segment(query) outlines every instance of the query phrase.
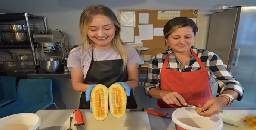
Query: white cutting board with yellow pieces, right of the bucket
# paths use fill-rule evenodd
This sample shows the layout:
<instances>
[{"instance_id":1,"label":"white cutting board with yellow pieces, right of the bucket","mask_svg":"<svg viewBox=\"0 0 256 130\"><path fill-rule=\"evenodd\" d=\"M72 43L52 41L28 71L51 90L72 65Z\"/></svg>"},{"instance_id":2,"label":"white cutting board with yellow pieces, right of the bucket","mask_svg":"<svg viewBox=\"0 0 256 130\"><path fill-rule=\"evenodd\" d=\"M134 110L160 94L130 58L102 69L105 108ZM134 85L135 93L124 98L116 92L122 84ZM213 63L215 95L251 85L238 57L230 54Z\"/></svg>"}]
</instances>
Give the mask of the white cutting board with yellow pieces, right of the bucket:
<instances>
[{"instance_id":1,"label":"white cutting board with yellow pieces, right of the bucket","mask_svg":"<svg viewBox=\"0 0 256 130\"><path fill-rule=\"evenodd\" d=\"M239 126L234 127L224 124L222 130L255 130L252 128L255 123L246 124L243 120L246 120L246 116L256 116L256 110L223 110L223 113L218 115L223 121Z\"/></svg>"}]
</instances>

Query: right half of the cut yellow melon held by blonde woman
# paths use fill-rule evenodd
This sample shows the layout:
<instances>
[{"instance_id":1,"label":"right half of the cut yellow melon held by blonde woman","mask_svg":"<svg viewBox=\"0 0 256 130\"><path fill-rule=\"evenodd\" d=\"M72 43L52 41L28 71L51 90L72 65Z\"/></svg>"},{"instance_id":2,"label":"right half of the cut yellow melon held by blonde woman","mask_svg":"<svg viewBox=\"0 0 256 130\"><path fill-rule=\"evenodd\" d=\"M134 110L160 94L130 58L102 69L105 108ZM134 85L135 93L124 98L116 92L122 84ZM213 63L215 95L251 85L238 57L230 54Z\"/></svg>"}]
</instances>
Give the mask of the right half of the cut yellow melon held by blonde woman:
<instances>
[{"instance_id":1,"label":"right half of the cut yellow melon held by blonde woman","mask_svg":"<svg viewBox=\"0 0 256 130\"><path fill-rule=\"evenodd\" d=\"M126 93L123 86L112 84L108 88L108 101L112 116L115 118L123 117L126 109Z\"/></svg>"}]
</instances>

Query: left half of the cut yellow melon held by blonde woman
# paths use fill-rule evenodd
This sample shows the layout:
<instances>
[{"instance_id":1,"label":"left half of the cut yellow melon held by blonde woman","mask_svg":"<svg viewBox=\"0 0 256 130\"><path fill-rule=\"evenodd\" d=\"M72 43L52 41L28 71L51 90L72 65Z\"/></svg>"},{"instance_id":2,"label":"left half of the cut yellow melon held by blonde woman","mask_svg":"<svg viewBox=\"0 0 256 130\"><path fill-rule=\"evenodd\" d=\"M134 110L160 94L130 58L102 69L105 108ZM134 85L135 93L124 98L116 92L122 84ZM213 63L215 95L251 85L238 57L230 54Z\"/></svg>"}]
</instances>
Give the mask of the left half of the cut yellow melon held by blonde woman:
<instances>
[{"instance_id":1,"label":"left half of the cut yellow melon held by blonde woman","mask_svg":"<svg viewBox=\"0 0 256 130\"><path fill-rule=\"evenodd\" d=\"M90 99L93 118L103 121L108 116L108 88L105 85L97 84L91 93Z\"/></svg>"}]
</instances>

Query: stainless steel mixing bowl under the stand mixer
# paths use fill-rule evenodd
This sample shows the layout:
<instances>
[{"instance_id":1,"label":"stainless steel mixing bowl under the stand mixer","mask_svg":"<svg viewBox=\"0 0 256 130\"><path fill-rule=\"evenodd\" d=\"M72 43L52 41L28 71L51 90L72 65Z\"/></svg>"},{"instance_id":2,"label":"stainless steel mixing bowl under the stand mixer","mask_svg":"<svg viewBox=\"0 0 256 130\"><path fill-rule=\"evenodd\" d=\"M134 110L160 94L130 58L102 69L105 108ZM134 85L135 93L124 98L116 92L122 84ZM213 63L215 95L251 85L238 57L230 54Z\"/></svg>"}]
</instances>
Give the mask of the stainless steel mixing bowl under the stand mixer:
<instances>
[{"instance_id":1,"label":"stainless steel mixing bowl under the stand mixer","mask_svg":"<svg viewBox=\"0 0 256 130\"><path fill-rule=\"evenodd\" d=\"M62 66L62 57L50 56L38 58L39 66L43 71L56 72Z\"/></svg>"}]
</instances>

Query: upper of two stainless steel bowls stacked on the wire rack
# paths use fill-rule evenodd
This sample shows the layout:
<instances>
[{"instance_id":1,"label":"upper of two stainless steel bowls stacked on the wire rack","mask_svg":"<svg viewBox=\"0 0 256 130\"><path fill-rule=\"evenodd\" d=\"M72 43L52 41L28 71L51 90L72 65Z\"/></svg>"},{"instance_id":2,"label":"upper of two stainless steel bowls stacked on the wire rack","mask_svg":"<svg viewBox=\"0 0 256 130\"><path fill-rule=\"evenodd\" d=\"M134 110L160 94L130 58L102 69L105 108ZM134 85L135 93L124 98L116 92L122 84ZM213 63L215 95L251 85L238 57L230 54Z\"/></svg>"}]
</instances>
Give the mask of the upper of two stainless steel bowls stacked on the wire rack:
<instances>
[{"instance_id":1,"label":"upper of two stainless steel bowls stacked on the wire rack","mask_svg":"<svg viewBox=\"0 0 256 130\"><path fill-rule=\"evenodd\" d=\"M1 24L1 32L28 32L27 25L18 25L18 24ZM34 32L34 25L30 25L30 31Z\"/></svg>"}]
</instances>

